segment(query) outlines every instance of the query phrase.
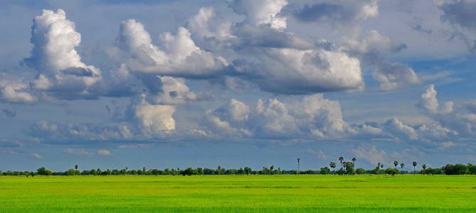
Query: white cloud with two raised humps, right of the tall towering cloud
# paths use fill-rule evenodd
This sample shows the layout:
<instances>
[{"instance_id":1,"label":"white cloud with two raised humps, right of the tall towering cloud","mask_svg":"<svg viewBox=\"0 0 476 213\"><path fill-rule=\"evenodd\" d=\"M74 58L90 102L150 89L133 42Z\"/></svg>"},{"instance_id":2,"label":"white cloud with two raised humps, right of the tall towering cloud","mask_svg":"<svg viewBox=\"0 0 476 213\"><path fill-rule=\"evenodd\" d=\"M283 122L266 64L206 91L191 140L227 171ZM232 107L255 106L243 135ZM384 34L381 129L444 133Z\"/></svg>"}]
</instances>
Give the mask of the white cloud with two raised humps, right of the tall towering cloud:
<instances>
[{"instance_id":1,"label":"white cloud with two raised humps, right of the tall towering cloud","mask_svg":"<svg viewBox=\"0 0 476 213\"><path fill-rule=\"evenodd\" d=\"M162 33L156 46L142 23L129 19L122 21L118 40L128 55L127 67L135 72L192 78L222 72L226 60L197 47L190 35L188 29L179 27L176 35Z\"/></svg>"}]
</instances>

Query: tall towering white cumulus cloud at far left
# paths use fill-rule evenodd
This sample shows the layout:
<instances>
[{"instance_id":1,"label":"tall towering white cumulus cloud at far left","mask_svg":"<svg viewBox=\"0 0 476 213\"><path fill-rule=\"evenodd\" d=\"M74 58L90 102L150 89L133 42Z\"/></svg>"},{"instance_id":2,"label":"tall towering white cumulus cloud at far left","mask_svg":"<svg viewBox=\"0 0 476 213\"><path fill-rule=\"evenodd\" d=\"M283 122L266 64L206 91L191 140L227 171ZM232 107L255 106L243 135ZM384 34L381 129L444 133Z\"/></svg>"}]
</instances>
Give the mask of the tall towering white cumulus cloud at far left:
<instances>
[{"instance_id":1,"label":"tall towering white cumulus cloud at far left","mask_svg":"<svg viewBox=\"0 0 476 213\"><path fill-rule=\"evenodd\" d=\"M66 18L62 9L43 10L33 19L31 27L31 57L26 65L38 70L33 89L55 92L58 97L95 96L95 84L101 80L101 72L92 65L81 62L75 48L81 35L75 31L75 23Z\"/></svg>"}]
</instances>

